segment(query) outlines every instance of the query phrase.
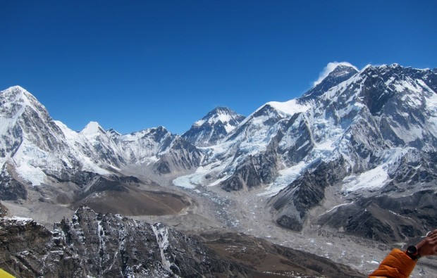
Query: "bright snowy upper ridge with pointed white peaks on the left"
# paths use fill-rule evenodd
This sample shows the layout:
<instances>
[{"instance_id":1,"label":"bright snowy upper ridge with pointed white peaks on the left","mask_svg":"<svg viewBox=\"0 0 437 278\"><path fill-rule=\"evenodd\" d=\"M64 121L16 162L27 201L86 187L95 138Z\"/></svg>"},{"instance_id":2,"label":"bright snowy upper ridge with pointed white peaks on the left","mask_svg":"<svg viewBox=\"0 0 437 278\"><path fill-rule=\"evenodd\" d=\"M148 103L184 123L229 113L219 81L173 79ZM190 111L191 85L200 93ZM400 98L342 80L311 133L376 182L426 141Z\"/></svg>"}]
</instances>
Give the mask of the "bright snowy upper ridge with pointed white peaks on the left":
<instances>
[{"instance_id":1,"label":"bright snowy upper ridge with pointed white peaks on the left","mask_svg":"<svg viewBox=\"0 0 437 278\"><path fill-rule=\"evenodd\" d=\"M52 120L44 106L21 87L1 91L1 101L4 151L0 169L5 163L13 165L18 177L34 186L53 178L76 179L80 171L112 175L128 163L154 163L176 139L164 127L122 136L105 132L97 122L74 132Z\"/></svg>"}]
</instances>

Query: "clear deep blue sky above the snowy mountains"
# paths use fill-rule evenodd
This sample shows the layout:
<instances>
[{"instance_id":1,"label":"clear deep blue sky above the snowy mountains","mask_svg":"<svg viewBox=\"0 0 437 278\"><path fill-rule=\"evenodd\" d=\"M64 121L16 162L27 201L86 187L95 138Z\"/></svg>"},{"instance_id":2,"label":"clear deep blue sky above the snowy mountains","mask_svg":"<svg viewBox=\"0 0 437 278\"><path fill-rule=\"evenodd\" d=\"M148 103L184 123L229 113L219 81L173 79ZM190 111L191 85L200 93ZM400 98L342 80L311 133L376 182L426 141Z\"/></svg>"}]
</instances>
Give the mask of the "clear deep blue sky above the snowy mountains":
<instances>
[{"instance_id":1,"label":"clear deep blue sky above the snowy mountains","mask_svg":"<svg viewBox=\"0 0 437 278\"><path fill-rule=\"evenodd\" d=\"M327 63L437 67L437 1L0 0L0 90L74 130L182 134L300 96Z\"/></svg>"}]
</instances>

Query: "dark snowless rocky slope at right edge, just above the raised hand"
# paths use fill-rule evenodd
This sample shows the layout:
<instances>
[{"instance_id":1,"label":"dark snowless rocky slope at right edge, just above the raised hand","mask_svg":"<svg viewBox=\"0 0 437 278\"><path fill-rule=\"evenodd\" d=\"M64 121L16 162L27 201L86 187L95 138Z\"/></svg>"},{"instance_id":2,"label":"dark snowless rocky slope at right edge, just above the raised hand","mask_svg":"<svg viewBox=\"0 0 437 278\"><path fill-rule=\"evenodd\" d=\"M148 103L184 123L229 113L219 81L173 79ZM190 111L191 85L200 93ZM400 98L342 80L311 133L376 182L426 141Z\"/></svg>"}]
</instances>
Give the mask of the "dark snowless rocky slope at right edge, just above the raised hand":
<instances>
[{"instance_id":1,"label":"dark snowless rocky slope at right edge, just above the raised hand","mask_svg":"<svg viewBox=\"0 0 437 278\"><path fill-rule=\"evenodd\" d=\"M423 236L437 225L437 193L363 198L321 217L319 224L343 227L345 232L384 243Z\"/></svg>"}]
</instances>

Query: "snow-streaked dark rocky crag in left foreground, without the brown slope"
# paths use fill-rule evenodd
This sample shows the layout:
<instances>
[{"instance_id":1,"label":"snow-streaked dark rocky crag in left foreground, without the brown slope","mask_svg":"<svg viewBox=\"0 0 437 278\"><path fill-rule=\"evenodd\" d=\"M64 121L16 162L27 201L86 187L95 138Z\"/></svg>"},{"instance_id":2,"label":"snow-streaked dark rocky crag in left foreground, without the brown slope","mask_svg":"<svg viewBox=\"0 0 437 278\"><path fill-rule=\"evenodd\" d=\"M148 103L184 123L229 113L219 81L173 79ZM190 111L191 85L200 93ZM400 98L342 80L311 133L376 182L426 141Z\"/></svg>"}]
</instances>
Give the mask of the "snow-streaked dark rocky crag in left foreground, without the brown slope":
<instances>
[{"instance_id":1,"label":"snow-streaked dark rocky crag in left foreground, without the brown slope","mask_svg":"<svg viewBox=\"0 0 437 278\"><path fill-rule=\"evenodd\" d=\"M32 220L0 220L0 267L17 277L247 277L164 225L79 208L54 231Z\"/></svg>"}]
</instances>

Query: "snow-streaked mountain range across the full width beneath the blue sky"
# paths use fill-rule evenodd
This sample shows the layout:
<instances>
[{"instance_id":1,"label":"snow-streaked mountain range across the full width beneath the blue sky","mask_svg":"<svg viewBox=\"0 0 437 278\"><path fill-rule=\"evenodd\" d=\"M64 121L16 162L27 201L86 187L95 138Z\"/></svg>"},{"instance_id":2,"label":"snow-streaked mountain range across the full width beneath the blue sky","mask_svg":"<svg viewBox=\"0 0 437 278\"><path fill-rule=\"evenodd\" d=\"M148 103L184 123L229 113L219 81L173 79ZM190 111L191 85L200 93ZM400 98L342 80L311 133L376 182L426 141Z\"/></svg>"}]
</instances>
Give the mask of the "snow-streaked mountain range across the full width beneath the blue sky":
<instances>
[{"instance_id":1,"label":"snow-streaked mountain range across the full width beneath the blue sky","mask_svg":"<svg viewBox=\"0 0 437 278\"><path fill-rule=\"evenodd\" d=\"M119 134L97 122L74 132L21 87L0 101L6 206L32 210L37 196L72 210L99 199L101 208L113 192L137 198L147 184L237 208L244 196L275 229L295 232L393 244L437 227L437 69L340 64L300 98L247 117L215 108L182 135ZM225 226L235 221L244 220Z\"/></svg>"}]
</instances>

